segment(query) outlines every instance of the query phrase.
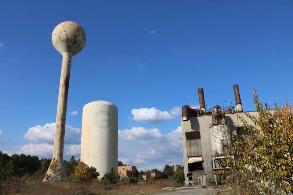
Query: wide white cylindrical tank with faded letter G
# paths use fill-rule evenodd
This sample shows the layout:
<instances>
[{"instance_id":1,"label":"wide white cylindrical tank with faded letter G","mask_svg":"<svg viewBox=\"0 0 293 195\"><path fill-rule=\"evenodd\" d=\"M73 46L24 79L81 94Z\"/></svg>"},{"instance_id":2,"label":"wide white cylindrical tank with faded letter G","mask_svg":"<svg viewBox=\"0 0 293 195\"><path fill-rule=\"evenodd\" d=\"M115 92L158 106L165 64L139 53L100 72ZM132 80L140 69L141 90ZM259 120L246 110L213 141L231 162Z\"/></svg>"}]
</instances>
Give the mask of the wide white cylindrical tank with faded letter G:
<instances>
[{"instance_id":1,"label":"wide white cylindrical tank with faded letter G","mask_svg":"<svg viewBox=\"0 0 293 195\"><path fill-rule=\"evenodd\" d=\"M118 166L118 108L107 101L93 101L82 110L81 161L93 166L99 178Z\"/></svg>"}]
</instances>

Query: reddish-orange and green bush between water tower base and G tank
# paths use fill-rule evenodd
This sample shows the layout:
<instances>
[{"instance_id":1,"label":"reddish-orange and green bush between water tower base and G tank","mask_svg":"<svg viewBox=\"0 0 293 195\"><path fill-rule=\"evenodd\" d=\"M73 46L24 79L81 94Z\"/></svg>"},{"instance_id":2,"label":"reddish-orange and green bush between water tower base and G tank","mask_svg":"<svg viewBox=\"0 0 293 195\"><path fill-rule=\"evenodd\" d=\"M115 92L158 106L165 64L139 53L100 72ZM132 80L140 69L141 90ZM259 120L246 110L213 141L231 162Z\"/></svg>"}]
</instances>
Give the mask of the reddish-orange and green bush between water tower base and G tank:
<instances>
[{"instance_id":1,"label":"reddish-orange and green bush between water tower base and G tank","mask_svg":"<svg viewBox=\"0 0 293 195\"><path fill-rule=\"evenodd\" d=\"M96 168L92 170L96 171ZM78 165L74 167L74 173L71 174L69 180L76 183L90 183L92 179L93 172L90 170L89 166L83 162L78 162Z\"/></svg>"}]
</instances>

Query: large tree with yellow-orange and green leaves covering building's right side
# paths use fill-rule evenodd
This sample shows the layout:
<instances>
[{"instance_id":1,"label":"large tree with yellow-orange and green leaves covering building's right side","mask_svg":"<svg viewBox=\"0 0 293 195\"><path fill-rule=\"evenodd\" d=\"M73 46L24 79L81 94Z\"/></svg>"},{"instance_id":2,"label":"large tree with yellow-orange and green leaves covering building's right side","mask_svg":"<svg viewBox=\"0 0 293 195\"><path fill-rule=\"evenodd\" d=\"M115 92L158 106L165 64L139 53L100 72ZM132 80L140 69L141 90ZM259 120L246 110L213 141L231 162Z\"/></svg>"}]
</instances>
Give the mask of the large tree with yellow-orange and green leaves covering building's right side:
<instances>
[{"instance_id":1,"label":"large tree with yellow-orange and green leaves covering building's right side","mask_svg":"<svg viewBox=\"0 0 293 195\"><path fill-rule=\"evenodd\" d=\"M233 164L228 154L226 163L232 168L220 173L227 178L226 186L238 194L293 193L293 107L287 102L282 108L266 110L255 90L253 100L257 115L244 113L253 124L238 115L247 134L231 135L232 154L243 158Z\"/></svg>"}]
</instances>

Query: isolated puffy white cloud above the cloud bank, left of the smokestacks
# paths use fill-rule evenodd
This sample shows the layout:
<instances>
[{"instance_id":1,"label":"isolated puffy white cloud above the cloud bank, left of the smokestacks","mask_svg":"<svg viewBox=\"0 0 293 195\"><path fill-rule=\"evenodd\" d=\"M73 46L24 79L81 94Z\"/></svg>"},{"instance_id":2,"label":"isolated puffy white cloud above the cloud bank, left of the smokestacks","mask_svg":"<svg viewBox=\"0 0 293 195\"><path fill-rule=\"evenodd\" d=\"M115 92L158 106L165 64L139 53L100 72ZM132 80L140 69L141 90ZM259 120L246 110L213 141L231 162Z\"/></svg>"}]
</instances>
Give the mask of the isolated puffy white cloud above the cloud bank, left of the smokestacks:
<instances>
[{"instance_id":1,"label":"isolated puffy white cloud above the cloud bank, left of the smokestacks","mask_svg":"<svg viewBox=\"0 0 293 195\"><path fill-rule=\"evenodd\" d=\"M160 123L167 120L175 119L174 116L171 116L167 111L160 111L157 108L139 108L132 109L131 114L133 115L133 120L137 122L150 122L150 123Z\"/></svg>"}]
</instances>

